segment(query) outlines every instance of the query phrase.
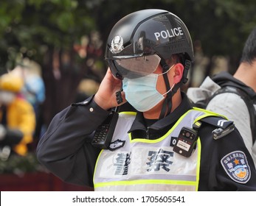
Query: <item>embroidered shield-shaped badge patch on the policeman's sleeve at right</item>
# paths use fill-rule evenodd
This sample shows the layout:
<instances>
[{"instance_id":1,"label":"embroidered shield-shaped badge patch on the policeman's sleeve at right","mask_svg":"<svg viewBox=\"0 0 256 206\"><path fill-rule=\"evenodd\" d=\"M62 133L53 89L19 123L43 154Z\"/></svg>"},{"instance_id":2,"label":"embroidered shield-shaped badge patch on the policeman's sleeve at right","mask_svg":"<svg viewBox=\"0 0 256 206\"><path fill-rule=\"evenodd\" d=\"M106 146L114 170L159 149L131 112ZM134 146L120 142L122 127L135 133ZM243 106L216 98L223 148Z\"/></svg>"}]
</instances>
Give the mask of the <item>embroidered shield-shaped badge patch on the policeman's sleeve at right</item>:
<instances>
[{"instance_id":1,"label":"embroidered shield-shaped badge patch on the policeman's sleeve at right","mask_svg":"<svg viewBox=\"0 0 256 206\"><path fill-rule=\"evenodd\" d=\"M235 182L245 184L251 178L251 170L246 160L246 154L241 151L234 151L226 154L221 159L226 174Z\"/></svg>"}]
</instances>

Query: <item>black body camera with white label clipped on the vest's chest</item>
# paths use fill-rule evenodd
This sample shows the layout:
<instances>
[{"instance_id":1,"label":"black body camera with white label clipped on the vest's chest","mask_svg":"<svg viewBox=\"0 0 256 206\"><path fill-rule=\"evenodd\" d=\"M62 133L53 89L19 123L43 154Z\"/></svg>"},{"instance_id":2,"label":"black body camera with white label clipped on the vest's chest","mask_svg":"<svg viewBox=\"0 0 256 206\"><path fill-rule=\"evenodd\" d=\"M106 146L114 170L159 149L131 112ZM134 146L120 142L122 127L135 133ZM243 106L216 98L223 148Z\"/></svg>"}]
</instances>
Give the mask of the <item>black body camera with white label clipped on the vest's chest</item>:
<instances>
[{"instance_id":1,"label":"black body camera with white label clipped on the vest's chest","mask_svg":"<svg viewBox=\"0 0 256 206\"><path fill-rule=\"evenodd\" d=\"M196 129L182 127L176 145L173 146L173 152L181 154L184 157L190 157L196 146L196 141L198 139L197 133Z\"/></svg>"}]
</instances>

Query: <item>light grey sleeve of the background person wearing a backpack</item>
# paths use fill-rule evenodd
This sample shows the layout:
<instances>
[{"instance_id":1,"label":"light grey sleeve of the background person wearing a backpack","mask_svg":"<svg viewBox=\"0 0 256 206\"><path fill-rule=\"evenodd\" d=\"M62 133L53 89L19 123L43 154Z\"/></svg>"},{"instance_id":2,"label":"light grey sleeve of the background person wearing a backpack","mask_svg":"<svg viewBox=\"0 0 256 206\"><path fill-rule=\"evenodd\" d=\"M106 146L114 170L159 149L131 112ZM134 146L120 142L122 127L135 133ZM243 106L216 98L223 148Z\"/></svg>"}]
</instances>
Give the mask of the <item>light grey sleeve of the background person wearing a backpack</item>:
<instances>
[{"instance_id":1,"label":"light grey sleeve of the background person wearing a backpack","mask_svg":"<svg viewBox=\"0 0 256 206\"><path fill-rule=\"evenodd\" d=\"M221 93L215 96L207 105L207 110L226 116L234 121L247 149L252 154L252 131L249 111L241 96L235 93Z\"/></svg>"}]
</instances>

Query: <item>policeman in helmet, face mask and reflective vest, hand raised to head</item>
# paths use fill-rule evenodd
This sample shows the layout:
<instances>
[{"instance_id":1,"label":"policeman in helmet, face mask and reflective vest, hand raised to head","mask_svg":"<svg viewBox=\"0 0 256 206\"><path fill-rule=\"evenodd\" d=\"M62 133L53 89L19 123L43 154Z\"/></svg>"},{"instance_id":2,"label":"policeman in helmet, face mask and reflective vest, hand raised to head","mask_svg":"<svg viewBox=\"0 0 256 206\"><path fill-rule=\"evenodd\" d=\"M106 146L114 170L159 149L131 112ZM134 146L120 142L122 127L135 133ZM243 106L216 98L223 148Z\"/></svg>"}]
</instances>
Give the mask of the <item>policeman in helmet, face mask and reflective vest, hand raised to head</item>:
<instances>
[{"instance_id":1,"label":"policeman in helmet, face mask and reflective vest, hand raised to head","mask_svg":"<svg viewBox=\"0 0 256 206\"><path fill-rule=\"evenodd\" d=\"M181 92L193 44L179 17L125 16L105 58L97 93L58 113L38 143L46 168L95 191L256 191L252 157L232 121L191 107Z\"/></svg>"}]
</instances>

